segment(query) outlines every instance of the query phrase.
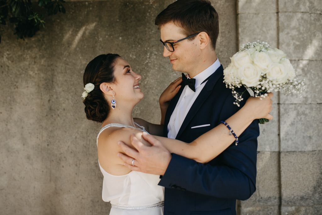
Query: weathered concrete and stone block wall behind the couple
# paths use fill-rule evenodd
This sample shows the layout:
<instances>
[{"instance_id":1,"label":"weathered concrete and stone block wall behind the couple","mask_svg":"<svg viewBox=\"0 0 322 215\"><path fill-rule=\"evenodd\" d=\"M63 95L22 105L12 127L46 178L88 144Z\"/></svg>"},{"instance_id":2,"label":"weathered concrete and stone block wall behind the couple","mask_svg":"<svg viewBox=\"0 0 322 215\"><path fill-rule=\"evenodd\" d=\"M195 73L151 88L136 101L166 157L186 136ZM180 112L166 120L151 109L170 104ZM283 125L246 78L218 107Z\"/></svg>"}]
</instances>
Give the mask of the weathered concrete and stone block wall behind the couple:
<instances>
[{"instance_id":1,"label":"weathered concrete and stone block wall behind the couple","mask_svg":"<svg viewBox=\"0 0 322 215\"><path fill-rule=\"evenodd\" d=\"M99 125L86 119L87 63L119 53L142 75L133 115L159 121L158 98L180 76L162 56L154 18L173 0L67 2L33 38L1 26L0 214L107 214L96 151ZM319 0L212 0L220 16L218 57L261 39L284 50L307 79L301 99L276 94L261 126L257 191L239 214L321 214L321 12ZM265 29L263 28L265 26ZM300 32L300 33L299 33Z\"/></svg>"}]
</instances>

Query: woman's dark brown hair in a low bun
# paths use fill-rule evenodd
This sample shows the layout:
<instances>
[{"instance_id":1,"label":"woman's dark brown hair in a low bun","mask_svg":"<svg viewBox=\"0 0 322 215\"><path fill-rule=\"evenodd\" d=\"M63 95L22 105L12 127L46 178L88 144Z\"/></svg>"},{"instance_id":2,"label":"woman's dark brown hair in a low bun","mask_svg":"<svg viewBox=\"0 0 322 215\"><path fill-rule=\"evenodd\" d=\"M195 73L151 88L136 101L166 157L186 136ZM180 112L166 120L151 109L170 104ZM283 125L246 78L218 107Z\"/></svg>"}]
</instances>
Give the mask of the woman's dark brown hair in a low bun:
<instances>
[{"instance_id":1,"label":"woman's dark brown hair in a low bun","mask_svg":"<svg viewBox=\"0 0 322 215\"><path fill-rule=\"evenodd\" d=\"M87 64L83 76L84 87L88 83L95 87L84 99L86 118L96 122L103 122L107 118L111 107L99 85L114 83L114 66L119 57L118 54L101 54Z\"/></svg>"}]
</instances>

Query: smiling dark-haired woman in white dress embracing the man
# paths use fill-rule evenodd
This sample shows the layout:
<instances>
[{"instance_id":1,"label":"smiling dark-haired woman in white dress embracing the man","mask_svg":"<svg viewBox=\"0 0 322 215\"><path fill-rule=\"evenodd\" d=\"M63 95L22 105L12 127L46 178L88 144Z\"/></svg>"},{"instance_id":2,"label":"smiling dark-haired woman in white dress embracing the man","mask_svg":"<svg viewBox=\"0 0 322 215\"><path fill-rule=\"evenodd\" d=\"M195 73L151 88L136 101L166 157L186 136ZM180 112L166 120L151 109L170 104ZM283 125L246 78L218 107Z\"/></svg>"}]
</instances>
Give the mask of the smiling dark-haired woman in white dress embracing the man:
<instances>
[{"instance_id":1,"label":"smiling dark-haired woman in white dress embracing the man","mask_svg":"<svg viewBox=\"0 0 322 215\"><path fill-rule=\"evenodd\" d=\"M182 80L176 79L160 96L162 119L161 125L156 125L132 117L134 106L143 98L138 83L140 79L141 76L118 54L97 56L87 65L83 76L85 92L82 97L86 117L102 123L102 129L97 136L97 148L99 168L104 176L102 199L110 201L110 215L163 214L164 188L157 185L160 176L128 169L117 156L122 152L118 141L133 147L130 136L133 138L134 134L144 144L149 145L142 138L142 133L147 132L156 135L170 153L202 163L212 160L235 141L233 135L228 135L229 129L224 124L216 126L189 144L161 137L167 102L178 92ZM269 98L271 97L272 93L269 93ZM272 119L269 114L271 104L271 99L250 97L225 122L239 136L254 119Z\"/></svg>"}]
</instances>

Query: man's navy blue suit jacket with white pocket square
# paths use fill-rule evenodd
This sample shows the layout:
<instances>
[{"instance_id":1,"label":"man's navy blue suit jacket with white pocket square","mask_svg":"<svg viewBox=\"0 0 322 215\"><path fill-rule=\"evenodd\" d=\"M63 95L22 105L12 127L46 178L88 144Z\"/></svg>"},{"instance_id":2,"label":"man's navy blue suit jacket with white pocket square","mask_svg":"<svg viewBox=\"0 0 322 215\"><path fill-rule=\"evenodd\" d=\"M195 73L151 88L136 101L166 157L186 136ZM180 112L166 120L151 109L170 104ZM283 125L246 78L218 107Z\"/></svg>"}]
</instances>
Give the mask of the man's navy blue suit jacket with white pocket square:
<instances>
[{"instance_id":1,"label":"man's navy blue suit jacket with white pocket square","mask_svg":"<svg viewBox=\"0 0 322 215\"><path fill-rule=\"evenodd\" d=\"M184 87L169 104L164 135L173 110ZM240 89L241 92L245 88ZM244 93L241 106L249 97ZM190 108L175 139L192 142L239 110L234 105L231 89L223 83L223 66L211 75ZM207 125L191 128L194 126ZM232 129L234 129L232 127ZM201 164L172 154L166 173L159 185L165 187L165 214L236 214L236 199L246 200L255 192L257 120L239 136L239 144L232 143L212 161Z\"/></svg>"}]
</instances>

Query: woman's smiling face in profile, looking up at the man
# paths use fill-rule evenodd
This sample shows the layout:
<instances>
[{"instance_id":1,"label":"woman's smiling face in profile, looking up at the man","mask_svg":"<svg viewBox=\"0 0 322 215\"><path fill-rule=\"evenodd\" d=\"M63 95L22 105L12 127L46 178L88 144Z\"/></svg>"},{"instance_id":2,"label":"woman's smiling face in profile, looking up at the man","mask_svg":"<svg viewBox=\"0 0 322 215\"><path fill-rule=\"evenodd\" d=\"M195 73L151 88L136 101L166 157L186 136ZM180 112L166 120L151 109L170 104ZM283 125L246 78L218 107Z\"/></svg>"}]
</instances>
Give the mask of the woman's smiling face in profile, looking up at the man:
<instances>
[{"instance_id":1,"label":"woman's smiling face in profile, looking up at the man","mask_svg":"<svg viewBox=\"0 0 322 215\"><path fill-rule=\"evenodd\" d=\"M141 76L135 73L123 58L118 58L115 63L114 77L115 100L135 100L139 102L144 97L138 83Z\"/></svg>"}]
</instances>

